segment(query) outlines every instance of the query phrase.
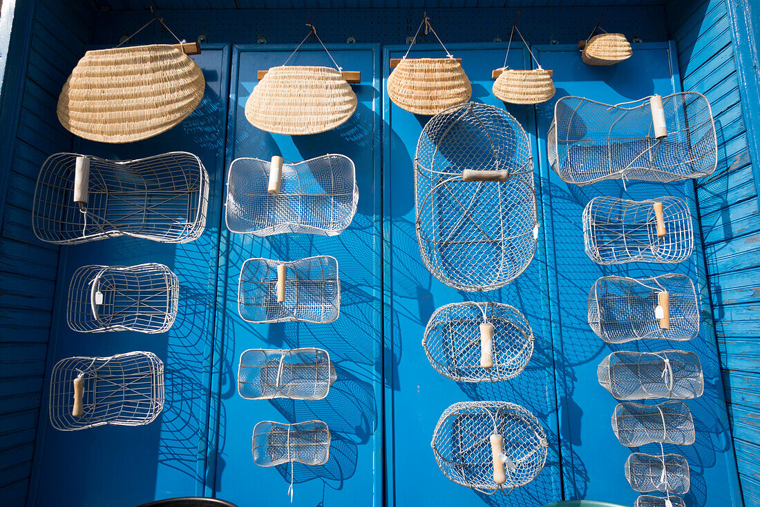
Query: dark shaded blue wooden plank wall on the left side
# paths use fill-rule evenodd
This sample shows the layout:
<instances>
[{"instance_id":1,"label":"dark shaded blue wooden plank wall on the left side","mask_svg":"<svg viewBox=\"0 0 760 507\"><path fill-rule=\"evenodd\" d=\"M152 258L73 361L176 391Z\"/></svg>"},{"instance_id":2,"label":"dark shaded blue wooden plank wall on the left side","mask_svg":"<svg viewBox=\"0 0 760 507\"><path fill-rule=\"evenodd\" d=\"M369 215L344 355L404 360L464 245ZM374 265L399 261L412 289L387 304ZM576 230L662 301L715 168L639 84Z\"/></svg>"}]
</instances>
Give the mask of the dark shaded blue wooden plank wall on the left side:
<instances>
[{"instance_id":1,"label":"dark shaded blue wooden plank wall on the left side","mask_svg":"<svg viewBox=\"0 0 760 507\"><path fill-rule=\"evenodd\" d=\"M21 1L21 0L20 0ZM0 222L0 505L25 505L48 353L59 248L31 229L34 184L51 153L71 150L55 116L58 94L90 43L95 9L87 0L38 0L29 61L11 146ZM24 65L10 61L8 65Z\"/></svg>"}]
</instances>

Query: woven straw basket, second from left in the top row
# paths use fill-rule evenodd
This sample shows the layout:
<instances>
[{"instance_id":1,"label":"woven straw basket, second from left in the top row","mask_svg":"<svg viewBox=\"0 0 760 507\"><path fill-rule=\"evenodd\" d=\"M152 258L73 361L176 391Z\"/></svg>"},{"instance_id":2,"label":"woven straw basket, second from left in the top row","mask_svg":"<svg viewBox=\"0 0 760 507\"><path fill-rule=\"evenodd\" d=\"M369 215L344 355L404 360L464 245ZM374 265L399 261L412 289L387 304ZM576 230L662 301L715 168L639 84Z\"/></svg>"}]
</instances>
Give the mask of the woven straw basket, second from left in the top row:
<instances>
[{"instance_id":1,"label":"woven straw basket, second from left in the top row","mask_svg":"<svg viewBox=\"0 0 760 507\"><path fill-rule=\"evenodd\" d=\"M245 102L245 118L262 131L306 135L344 124L356 111L356 93L334 68L272 67Z\"/></svg>"}]
</instances>

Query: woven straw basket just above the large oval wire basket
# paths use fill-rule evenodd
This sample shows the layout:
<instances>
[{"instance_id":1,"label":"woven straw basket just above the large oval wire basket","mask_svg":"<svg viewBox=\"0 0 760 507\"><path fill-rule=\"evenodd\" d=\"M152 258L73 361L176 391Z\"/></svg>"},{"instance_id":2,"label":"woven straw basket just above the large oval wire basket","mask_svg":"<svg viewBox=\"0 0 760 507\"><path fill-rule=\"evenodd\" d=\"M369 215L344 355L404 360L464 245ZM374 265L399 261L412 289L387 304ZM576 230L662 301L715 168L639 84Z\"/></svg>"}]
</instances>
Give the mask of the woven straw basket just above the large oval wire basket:
<instances>
[{"instance_id":1,"label":"woven straw basket just above the large oval wire basket","mask_svg":"<svg viewBox=\"0 0 760 507\"><path fill-rule=\"evenodd\" d=\"M388 76L391 102L416 115L437 115L464 104L473 93L454 58L403 58Z\"/></svg>"}]
</instances>

